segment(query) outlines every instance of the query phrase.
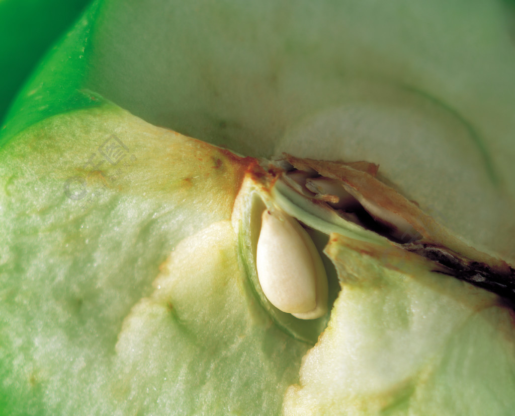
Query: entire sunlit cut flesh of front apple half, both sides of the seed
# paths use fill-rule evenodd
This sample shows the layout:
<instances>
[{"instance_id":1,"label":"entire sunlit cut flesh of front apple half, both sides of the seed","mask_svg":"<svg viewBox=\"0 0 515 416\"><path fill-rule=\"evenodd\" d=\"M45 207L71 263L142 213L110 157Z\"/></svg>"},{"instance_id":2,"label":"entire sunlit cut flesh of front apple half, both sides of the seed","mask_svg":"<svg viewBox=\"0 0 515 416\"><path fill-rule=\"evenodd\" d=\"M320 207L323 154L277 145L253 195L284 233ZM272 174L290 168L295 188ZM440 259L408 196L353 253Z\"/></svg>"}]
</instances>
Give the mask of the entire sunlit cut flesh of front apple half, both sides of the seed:
<instances>
[{"instance_id":1,"label":"entire sunlit cut flesh of front apple half, both sides of the seed","mask_svg":"<svg viewBox=\"0 0 515 416\"><path fill-rule=\"evenodd\" d=\"M124 159L84 167L112 135ZM508 309L382 237L331 235L342 290L308 352L323 326L278 319L241 256L238 234L251 227L231 218L246 159L111 105L50 118L0 155L5 414L508 415L515 405Z\"/></svg>"}]
</instances>

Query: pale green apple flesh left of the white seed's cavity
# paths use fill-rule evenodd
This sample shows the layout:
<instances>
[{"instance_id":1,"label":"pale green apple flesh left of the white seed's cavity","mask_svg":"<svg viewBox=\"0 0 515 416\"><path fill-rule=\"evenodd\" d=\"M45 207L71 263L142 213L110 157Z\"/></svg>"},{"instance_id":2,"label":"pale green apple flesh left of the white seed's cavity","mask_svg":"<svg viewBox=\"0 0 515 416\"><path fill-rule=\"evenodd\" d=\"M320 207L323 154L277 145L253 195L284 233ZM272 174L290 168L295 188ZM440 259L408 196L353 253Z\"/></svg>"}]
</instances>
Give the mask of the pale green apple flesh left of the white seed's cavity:
<instances>
[{"instance_id":1,"label":"pale green apple flesh left of the white seed's cavity","mask_svg":"<svg viewBox=\"0 0 515 416\"><path fill-rule=\"evenodd\" d=\"M126 157L68 198L112 134ZM309 345L250 294L229 221L239 165L109 106L48 119L1 157L3 414L241 414L249 397L279 411Z\"/></svg>"}]
</instances>

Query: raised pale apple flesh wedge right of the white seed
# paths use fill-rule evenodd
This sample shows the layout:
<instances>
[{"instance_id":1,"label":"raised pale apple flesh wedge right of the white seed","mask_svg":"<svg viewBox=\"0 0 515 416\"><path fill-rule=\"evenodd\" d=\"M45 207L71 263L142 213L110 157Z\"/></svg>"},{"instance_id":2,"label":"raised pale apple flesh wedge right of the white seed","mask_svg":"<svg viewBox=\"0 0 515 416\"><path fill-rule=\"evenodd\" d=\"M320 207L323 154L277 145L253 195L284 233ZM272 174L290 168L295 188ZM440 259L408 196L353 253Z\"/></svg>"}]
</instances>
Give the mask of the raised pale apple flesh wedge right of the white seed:
<instances>
[{"instance_id":1,"label":"raised pale apple flesh wedge right of the white seed","mask_svg":"<svg viewBox=\"0 0 515 416\"><path fill-rule=\"evenodd\" d=\"M403 256L335 236L342 291L284 404L293 415L509 415L515 331L490 293ZM402 257L401 257L402 258Z\"/></svg>"}]
</instances>

